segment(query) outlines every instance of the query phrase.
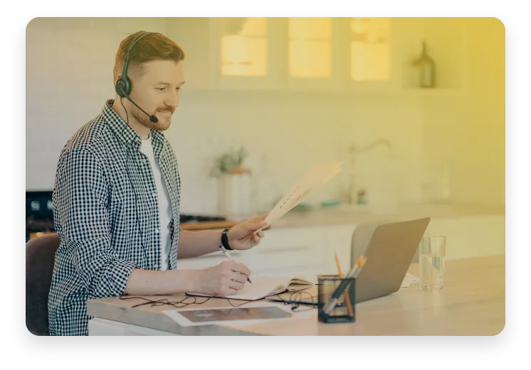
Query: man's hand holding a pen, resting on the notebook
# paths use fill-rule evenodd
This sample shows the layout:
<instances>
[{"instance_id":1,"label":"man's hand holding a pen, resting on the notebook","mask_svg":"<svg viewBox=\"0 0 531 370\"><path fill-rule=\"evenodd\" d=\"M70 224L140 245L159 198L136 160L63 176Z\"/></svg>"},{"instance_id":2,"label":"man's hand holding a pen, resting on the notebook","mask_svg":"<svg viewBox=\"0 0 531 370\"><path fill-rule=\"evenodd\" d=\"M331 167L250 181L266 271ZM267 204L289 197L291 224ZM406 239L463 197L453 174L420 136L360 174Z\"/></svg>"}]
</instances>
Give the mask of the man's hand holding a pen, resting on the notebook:
<instances>
[{"instance_id":1,"label":"man's hand holding a pen, resting on the notebook","mask_svg":"<svg viewBox=\"0 0 531 370\"><path fill-rule=\"evenodd\" d=\"M198 293L208 295L234 295L246 284L251 270L242 263L224 261L201 270Z\"/></svg>"}]
</instances>

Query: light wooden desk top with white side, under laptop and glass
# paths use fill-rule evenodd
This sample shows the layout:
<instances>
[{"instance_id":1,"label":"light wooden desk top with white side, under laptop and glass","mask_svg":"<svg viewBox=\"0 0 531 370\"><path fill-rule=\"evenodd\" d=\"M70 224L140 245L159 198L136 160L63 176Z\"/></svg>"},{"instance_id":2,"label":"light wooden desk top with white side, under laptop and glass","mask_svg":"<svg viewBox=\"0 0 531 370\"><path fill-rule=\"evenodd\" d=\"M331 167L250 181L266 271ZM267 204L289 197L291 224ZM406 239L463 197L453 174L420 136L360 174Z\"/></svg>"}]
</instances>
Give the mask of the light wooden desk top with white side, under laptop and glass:
<instances>
[{"instance_id":1,"label":"light wooden desk top with white side, under laptop and glass","mask_svg":"<svg viewBox=\"0 0 531 370\"><path fill-rule=\"evenodd\" d=\"M409 272L419 276L418 264L411 264ZM179 300L184 295L144 297ZM347 324L317 322L315 310L310 318L293 322L181 327L162 313L172 306L131 308L141 302L117 297L88 300L88 314L94 316L89 335L496 335L505 327L505 254L446 261L442 292L422 292L414 282L391 295L358 303L356 322ZM214 298L197 305L215 306L230 307L226 300Z\"/></svg>"}]
</instances>

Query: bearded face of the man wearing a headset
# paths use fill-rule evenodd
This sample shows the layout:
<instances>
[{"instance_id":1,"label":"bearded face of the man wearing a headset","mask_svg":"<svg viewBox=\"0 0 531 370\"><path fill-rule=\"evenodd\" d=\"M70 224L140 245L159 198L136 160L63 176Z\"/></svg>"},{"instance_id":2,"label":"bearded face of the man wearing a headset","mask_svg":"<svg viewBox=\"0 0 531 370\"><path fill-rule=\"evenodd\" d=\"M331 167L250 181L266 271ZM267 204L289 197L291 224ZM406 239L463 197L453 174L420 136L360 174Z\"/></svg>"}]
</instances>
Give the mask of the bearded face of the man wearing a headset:
<instances>
[{"instance_id":1,"label":"bearded face of the man wearing a headset","mask_svg":"<svg viewBox=\"0 0 531 370\"><path fill-rule=\"evenodd\" d=\"M148 114L159 121L155 124L135 104L127 109L140 124L149 129L164 131L169 128L172 114L179 107L179 91L184 84L182 61L153 60L144 63L145 73L131 82L130 97Z\"/></svg>"}]
</instances>

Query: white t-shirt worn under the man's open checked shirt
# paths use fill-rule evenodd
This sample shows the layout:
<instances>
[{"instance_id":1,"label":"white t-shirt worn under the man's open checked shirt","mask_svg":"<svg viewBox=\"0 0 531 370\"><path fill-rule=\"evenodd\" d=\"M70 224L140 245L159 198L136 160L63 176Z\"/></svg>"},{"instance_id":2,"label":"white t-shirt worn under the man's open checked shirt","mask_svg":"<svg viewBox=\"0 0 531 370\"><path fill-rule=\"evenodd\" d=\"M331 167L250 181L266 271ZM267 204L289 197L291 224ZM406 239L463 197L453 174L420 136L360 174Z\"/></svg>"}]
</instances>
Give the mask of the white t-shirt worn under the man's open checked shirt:
<instances>
[{"instance_id":1,"label":"white t-shirt worn under the man's open checked shirt","mask_svg":"<svg viewBox=\"0 0 531 370\"><path fill-rule=\"evenodd\" d=\"M159 215L160 215L160 247L162 254L161 270L167 270L169 264L169 249L172 246L172 236L170 234L170 222L172 222L172 203L169 202L169 194L164 183L164 178L160 172L159 164L155 161L153 154L153 147L151 144L151 134L147 140L142 140L142 147L140 151L149 158L153 175L155 178L155 185L157 185L157 200L159 201Z\"/></svg>"}]
</instances>

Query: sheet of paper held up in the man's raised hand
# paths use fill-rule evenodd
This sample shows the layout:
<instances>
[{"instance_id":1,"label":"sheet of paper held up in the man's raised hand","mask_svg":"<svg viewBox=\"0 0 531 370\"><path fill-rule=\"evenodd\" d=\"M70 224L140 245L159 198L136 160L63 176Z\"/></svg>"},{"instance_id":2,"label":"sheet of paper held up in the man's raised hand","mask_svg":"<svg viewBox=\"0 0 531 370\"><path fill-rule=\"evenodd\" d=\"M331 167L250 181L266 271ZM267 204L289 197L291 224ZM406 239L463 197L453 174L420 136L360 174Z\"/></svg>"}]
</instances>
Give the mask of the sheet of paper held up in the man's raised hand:
<instances>
[{"instance_id":1,"label":"sheet of paper held up in the man's raised hand","mask_svg":"<svg viewBox=\"0 0 531 370\"><path fill-rule=\"evenodd\" d=\"M335 175L341 172L342 163L343 162L321 162L312 165L295 185L293 185L290 191L288 191L275 207L273 207L273 210L269 212L268 216L265 217L265 222L267 222L265 227L268 227L275 222L275 220L292 210L293 207L300 202L303 202L303 200L309 197L315 192L315 190L322 187L322 185L328 183L328 181L334 178ZM265 229L265 227L263 227L263 229ZM258 231L259 230L257 230L255 234Z\"/></svg>"}]
</instances>

